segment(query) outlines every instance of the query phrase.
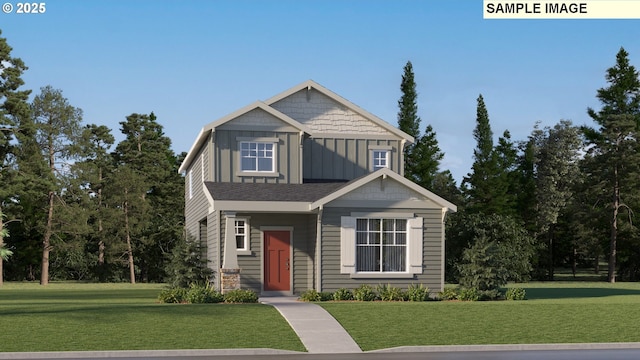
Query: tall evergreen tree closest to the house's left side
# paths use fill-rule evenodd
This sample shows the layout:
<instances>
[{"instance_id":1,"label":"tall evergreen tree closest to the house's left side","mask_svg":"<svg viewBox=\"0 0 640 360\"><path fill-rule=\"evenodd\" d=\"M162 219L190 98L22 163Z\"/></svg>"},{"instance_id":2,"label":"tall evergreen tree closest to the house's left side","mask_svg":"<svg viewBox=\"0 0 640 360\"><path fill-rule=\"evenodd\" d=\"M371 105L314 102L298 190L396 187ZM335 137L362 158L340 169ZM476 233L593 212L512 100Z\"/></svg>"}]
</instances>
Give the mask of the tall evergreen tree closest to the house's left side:
<instances>
[{"instance_id":1,"label":"tall evergreen tree closest to the house's left side","mask_svg":"<svg viewBox=\"0 0 640 360\"><path fill-rule=\"evenodd\" d=\"M132 114L120 123L125 139L113 154L118 167L127 166L129 178L139 181L134 188L150 209L150 216L139 218L132 229L132 247L140 275L145 280L161 281L173 246L182 237L184 224L184 187L178 174L178 161L171 150L171 140L153 113Z\"/></svg>"}]
</instances>

